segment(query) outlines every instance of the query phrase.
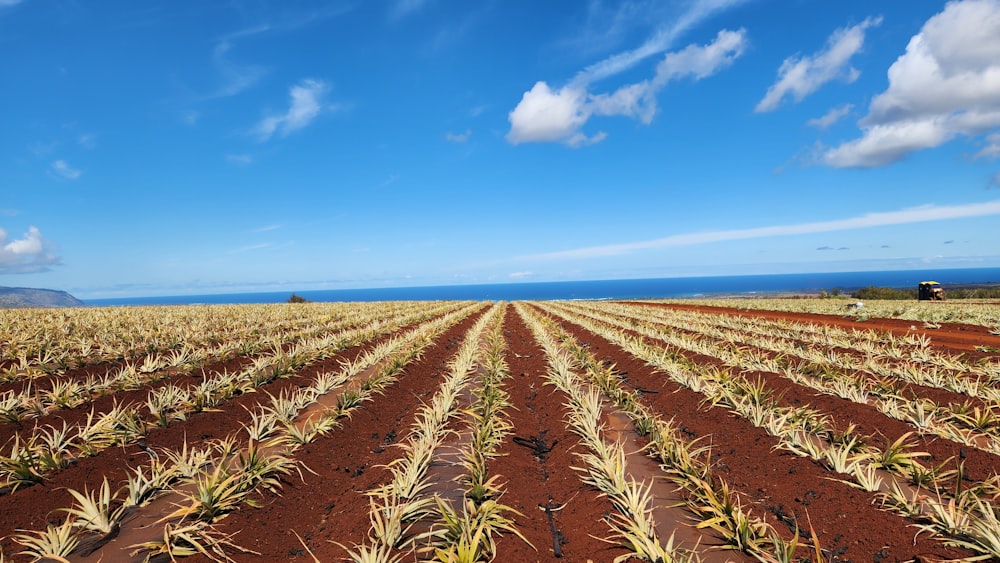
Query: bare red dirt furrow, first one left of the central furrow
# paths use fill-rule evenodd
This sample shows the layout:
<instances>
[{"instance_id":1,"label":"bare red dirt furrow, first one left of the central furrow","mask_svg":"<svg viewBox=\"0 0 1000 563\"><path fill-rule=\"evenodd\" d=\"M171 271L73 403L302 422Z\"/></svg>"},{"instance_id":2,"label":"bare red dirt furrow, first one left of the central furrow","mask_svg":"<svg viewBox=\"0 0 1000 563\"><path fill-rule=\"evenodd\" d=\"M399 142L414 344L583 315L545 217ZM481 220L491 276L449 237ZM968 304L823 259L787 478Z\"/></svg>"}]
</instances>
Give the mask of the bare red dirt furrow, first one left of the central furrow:
<instances>
[{"instance_id":1,"label":"bare red dirt furrow, first one left of the central furrow","mask_svg":"<svg viewBox=\"0 0 1000 563\"><path fill-rule=\"evenodd\" d=\"M289 480L280 496L265 494L260 508L243 506L216 524L223 533L237 533L239 545L260 553L231 556L236 561L312 561L304 542L320 561L337 561L346 551L334 542L352 547L364 541L371 523L363 492L388 478L380 465L396 457L393 444L410 427L419 405L434 394L440 374L482 314L449 328L383 395L364 404L340 428L299 449L295 458L310 469L301 481Z\"/></svg>"}]
</instances>

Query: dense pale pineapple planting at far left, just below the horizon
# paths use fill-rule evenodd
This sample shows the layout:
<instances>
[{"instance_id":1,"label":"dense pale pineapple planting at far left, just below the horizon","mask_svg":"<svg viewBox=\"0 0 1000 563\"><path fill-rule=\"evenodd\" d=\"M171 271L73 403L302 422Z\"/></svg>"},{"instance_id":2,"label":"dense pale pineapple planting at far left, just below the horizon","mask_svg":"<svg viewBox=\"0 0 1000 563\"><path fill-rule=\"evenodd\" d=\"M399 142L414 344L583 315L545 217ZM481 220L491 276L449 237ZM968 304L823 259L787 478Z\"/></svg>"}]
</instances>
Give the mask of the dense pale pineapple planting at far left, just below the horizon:
<instances>
[{"instance_id":1,"label":"dense pale pineapple planting at far left, just below the horizon","mask_svg":"<svg viewBox=\"0 0 1000 563\"><path fill-rule=\"evenodd\" d=\"M387 305L4 309L0 310L0 378L60 374L181 349L217 348L215 354L222 355L248 346L280 346L288 341L287 334L377 314Z\"/></svg>"}]
</instances>

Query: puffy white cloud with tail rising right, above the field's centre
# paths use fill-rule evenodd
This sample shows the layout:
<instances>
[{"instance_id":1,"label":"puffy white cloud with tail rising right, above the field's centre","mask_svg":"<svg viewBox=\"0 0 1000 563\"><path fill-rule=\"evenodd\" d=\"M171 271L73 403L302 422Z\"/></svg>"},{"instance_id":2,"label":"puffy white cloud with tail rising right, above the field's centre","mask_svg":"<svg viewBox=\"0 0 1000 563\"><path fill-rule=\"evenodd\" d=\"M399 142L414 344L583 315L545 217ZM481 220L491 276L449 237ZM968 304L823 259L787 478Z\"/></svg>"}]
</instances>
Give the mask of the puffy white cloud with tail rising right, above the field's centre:
<instances>
[{"instance_id":1,"label":"puffy white cloud with tail rising right, above the field's centre","mask_svg":"<svg viewBox=\"0 0 1000 563\"><path fill-rule=\"evenodd\" d=\"M594 115L625 116L650 123L656 114L656 94L672 80L711 76L730 65L746 45L746 34L720 31L708 45L689 45L668 53L657 65L652 78L627 84L605 94L591 94L585 84L574 81L558 90L546 82L537 82L524 93L508 114L512 144L526 142L561 142L581 146L600 142L604 132L587 135L583 126Z\"/></svg>"}]
</instances>

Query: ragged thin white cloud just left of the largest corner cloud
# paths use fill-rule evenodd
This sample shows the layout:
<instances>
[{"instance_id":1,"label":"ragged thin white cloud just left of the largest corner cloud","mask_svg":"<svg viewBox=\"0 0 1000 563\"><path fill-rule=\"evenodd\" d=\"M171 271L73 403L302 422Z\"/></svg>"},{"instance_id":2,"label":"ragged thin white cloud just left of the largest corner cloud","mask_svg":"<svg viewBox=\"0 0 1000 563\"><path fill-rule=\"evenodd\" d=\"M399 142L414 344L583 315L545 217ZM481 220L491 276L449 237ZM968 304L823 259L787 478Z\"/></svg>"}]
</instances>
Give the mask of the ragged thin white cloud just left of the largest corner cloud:
<instances>
[{"instance_id":1,"label":"ragged thin white cloud just left of the largest corner cloud","mask_svg":"<svg viewBox=\"0 0 1000 563\"><path fill-rule=\"evenodd\" d=\"M785 59L778 69L778 81L768 88L754 111L773 111L786 96L791 96L796 102L801 101L831 80L857 80L860 73L849 65L851 57L864 45L865 30L881 22L882 18L867 18L858 25L838 29L826 40L822 51Z\"/></svg>"}]
</instances>

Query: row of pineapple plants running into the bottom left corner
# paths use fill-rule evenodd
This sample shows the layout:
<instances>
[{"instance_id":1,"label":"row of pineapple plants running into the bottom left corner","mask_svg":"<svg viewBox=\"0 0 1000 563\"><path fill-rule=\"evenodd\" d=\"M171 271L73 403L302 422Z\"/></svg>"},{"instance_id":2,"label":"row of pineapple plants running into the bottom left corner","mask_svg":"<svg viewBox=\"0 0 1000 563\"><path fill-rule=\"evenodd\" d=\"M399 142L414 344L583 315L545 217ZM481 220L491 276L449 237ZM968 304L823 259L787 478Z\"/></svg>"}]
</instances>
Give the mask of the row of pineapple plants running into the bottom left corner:
<instances>
[{"instance_id":1,"label":"row of pineapple plants running into the bottom left corner","mask_svg":"<svg viewBox=\"0 0 1000 563\"><path fill-rule=\"evenodd\" d=\"M124 493L111 495L106 482L97 495L72 491L79 502L66 509L69 517L61 524L15 538L25 547L22 553L65 556L84 539L101 546L117 535L114 528L126 514L146 512L161 515L161 532L129 546L137 552L225 557L224 550L236 545L216 533L212 524L240 504L251 502L254 491L275 489L282 476L298 471L293 457L297 448L329 432L340 419L371 400L435 335L474 308L463 307L393 337L344 363L337 373L317 374L308 387L270 396L270 404L260 403L251 413L252 422L241 432L204 447L185 443L179 450L150 450L150 462L133 470ZM362 378L364 374L367 377ZM335 399L324 400L338 388L341 392ZM240 438L244 432L246 438ZM124 496L118 498L119 494ZM170 506L176 509L170 512L166 508ZM98 537L86 538L87 534Z\"/></svg>"}]
</instances>

